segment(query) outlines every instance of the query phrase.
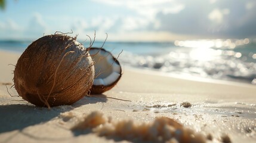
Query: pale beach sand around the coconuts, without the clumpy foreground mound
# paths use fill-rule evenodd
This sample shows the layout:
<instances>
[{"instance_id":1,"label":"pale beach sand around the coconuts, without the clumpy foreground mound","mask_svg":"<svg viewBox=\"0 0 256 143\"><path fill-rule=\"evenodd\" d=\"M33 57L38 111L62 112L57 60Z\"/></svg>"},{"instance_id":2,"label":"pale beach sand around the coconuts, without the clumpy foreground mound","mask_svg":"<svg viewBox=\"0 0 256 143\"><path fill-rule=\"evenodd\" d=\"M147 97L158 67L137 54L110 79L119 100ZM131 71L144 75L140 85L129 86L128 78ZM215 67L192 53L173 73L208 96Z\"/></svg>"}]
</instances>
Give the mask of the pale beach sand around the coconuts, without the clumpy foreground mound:
<instances>
[{"instance_id":1,"label":"pale beach sand around the coconuts, without the clumpy foreground mound","mask_svg":"<svg viewBox=\"0 0 256 143\"><path fill-rule=\"evenodd\" d=\"M0 51L0 142L136 142L98 136L88 129L71 130L92 111L99 111L117 122L131 120L137 124L168 117L184 128L212 138L207 142L223 142L224 138L232 142L256 141L255 85L187 80L124 67L118 85L101 98L84 97L75 104L48 110L8 94L5 85L8 88L13 85L14 70L14 66L8 64L16 64L19 56ZM9 92L17 95L13 88Z\"/></svg>"}]
</instances>

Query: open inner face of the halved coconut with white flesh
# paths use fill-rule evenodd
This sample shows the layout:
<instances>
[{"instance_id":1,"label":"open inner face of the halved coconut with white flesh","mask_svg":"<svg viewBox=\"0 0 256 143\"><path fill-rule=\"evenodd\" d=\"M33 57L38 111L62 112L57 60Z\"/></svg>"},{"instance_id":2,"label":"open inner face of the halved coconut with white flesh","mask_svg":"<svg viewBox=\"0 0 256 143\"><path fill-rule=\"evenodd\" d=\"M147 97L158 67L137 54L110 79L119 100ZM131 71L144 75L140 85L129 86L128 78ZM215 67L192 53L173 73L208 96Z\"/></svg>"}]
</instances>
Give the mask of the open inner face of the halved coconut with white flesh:
<instances>
[{"instance_id":1,"label":"open inner face of the halved coconut with white flesh","mask_svg":"<svg viewBox=\"0 0 256 143\"><path fill-rule=\"evenodd\" d=\"M121 76L121 66L116 63L110 52L100 48L90 49L90 55L95 61L95 79L93 85L111 85Z\"/></svg>"}]
</instances>

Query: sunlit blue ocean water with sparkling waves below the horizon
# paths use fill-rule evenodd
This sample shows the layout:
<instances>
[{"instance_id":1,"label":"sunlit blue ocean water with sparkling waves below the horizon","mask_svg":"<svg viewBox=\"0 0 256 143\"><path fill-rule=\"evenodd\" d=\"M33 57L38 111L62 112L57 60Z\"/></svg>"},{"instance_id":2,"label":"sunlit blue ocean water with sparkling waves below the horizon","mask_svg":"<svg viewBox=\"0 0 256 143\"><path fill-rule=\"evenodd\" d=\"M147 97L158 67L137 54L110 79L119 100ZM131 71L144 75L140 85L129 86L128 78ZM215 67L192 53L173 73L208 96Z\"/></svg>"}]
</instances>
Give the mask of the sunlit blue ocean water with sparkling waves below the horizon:
<instances>
[{"instance_id":1,"label":"sunlit blue ocean water with sparkling waves below the horizon","mask_svg":"<svg viewBox=\"0 0 256 143\"><path fill-rule=\"evenodd\" d=\"M0 49L23 52L31 41L0 41ZM83 43L85 47L89 43ZM93 46L101 47L103 42ZM138 69L256 84L255 39L174 42L106 42L121 64Z\"/></svg>"}]
</instances>

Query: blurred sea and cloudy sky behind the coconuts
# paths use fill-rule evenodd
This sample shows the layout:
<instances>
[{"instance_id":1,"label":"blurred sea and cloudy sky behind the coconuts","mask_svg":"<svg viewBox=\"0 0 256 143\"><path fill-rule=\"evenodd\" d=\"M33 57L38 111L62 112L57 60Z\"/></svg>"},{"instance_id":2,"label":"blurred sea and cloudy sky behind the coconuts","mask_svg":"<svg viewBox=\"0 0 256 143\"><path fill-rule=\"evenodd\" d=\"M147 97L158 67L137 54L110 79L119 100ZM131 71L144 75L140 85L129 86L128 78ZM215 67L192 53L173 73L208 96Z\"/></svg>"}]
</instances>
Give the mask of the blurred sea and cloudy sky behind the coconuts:
<instances>
[{"instance_id":1,"label":"blurred sea and cloudy sky behind the coconuts","mask_svg":"<svg viewBox=\"0 0 256 143\"><path fill-rule=\"evenodd\" d=\"M73 31L122 64L179 76L256 84L255 0L0 0L0 49ZM86 41L87 40L87 41Z\"/></svg>"}]
</instances>

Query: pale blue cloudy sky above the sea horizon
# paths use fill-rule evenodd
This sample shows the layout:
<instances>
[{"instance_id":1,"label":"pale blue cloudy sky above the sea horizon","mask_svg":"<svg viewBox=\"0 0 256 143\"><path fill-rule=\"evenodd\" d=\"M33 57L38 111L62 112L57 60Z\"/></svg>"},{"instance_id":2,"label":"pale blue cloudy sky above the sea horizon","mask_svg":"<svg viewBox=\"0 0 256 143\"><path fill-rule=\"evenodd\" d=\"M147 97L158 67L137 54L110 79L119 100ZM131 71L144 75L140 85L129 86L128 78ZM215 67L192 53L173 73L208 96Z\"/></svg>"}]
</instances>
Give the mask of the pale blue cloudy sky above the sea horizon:
<instances>
[{"instance_id":1,"label":"pale blue cloudy sky above the sea horizon","mask_svg":"<svg viewBox=\"0 0 256 143\"><path fill-rule=\"evenodd\" d=\"M255 0L6 0L0 40L57 31L103 41L256 38Z\"/></svg>"}]
</instances>

